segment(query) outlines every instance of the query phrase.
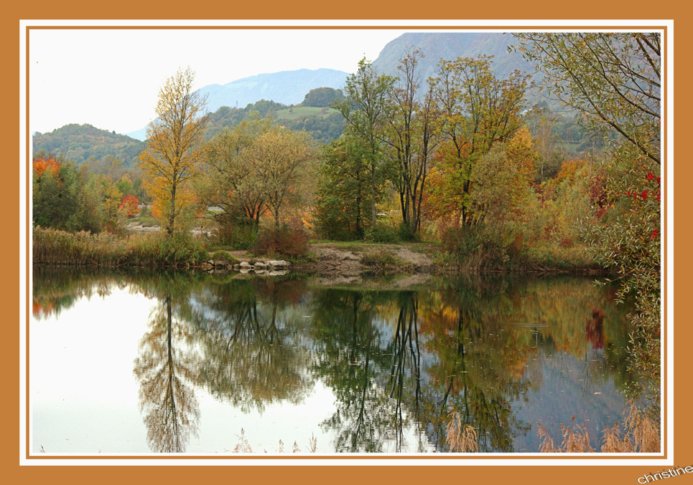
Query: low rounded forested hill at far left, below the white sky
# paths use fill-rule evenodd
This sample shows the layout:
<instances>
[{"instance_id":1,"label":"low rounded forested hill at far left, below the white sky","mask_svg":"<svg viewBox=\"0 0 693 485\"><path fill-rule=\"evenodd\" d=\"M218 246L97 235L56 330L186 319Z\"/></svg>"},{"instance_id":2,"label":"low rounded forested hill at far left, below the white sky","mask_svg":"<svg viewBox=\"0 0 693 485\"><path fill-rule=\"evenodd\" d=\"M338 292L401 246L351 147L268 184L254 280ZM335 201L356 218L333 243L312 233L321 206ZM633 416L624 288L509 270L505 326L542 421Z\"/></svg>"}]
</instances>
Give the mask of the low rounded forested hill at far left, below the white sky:
<instances>
[{"instance_id":1,"label":"low rounded forested hill at far left, below the white sky","mask_svg":"<svg viewBox=\"0 0 693 485\"><path fill-rule=\"evenodd\" d=\"M35 133L33 136L34 153L44 151L60 155L67 160L81 165L90 158L103 160L115 157L123 161L124 166L137 166L137 155L146 143L116 134L108 130L99 130L91 125L70 124L47 133Z\"/></svg>"}]
</instances>

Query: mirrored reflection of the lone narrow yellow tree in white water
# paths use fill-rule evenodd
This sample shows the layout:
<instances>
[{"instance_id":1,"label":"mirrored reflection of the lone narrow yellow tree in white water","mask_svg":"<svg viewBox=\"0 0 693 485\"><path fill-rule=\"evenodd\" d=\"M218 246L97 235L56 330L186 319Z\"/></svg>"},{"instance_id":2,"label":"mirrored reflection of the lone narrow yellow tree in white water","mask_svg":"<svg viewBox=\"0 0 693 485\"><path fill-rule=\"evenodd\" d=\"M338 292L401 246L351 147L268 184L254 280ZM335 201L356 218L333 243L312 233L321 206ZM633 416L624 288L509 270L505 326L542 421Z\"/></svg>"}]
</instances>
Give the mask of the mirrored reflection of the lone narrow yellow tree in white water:
<instances>
[{"instance_id":1,"label":"mirrored reflection of the lone narrow yellow tree in white water","mask_svg":"<svg viewBox=\"0 0 693 485\"><path fill-rule=\"evenodd\" d=\"M200 412L188 382L198 360L185 350L186 325L173 321L172 297L166 296L152 313L150 331L139 345L134 375L140 383L139 407L147 427L147 442L155 452L184 452L196 435Z\"/></svg>"}]
</instances>

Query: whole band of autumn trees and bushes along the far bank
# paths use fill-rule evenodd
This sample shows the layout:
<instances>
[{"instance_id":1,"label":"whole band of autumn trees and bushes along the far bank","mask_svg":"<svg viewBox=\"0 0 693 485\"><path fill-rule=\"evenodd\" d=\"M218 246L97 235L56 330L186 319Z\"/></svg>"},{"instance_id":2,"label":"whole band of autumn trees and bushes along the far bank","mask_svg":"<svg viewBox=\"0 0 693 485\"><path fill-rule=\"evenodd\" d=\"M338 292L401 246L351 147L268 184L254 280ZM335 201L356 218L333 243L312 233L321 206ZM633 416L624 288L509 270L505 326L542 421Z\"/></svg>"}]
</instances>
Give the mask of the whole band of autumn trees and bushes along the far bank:
<instances>
[{"instance_id":1,"label":"whole band of autumn trees and bushes along the far bank","mask_svg":"<svg viewBox=\"0 0 693 485\"><path fill-rule=\"evenodd\" d=\"M565 117L530 109L527 76L498 78L480 56L441 60L421 80L421 58L403 56L401 78L362 60L346 98L328 96L344 132L320 146L259 112L205 134L204 100L180 71L161 91L139 169L35 160L34 225L125 236L157 220L209 252L290 258L305 257L311 239L423 240L439 243L446 271L597 269L585 228L604 223L604 160L566 148ZM101 250L76 261L130 261L92 256Z\"/></svg>"}]
</instances>

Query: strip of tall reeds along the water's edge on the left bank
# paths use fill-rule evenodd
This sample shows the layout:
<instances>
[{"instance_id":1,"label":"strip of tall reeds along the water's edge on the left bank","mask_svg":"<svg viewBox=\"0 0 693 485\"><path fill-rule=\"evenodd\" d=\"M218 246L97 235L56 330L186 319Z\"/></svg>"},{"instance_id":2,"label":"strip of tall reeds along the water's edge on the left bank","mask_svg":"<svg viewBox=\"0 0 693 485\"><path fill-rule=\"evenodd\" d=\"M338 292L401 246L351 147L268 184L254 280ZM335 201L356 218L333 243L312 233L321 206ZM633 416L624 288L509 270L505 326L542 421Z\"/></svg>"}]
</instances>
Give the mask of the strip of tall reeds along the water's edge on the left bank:
<instances>
[{"instance_id":1,"label":"strip of tall reeds along the water's edge on the left bank","mask_svg":"<svg viewBox=\"0 0 693 485\"><path fill-rule=\"evenodd\" d=\"M109 233L33 230L35 264L173 267L197 265L207 258L203 245L183 233L171 238L163 234L119 238Z\"/></svg>"}]
</instances>

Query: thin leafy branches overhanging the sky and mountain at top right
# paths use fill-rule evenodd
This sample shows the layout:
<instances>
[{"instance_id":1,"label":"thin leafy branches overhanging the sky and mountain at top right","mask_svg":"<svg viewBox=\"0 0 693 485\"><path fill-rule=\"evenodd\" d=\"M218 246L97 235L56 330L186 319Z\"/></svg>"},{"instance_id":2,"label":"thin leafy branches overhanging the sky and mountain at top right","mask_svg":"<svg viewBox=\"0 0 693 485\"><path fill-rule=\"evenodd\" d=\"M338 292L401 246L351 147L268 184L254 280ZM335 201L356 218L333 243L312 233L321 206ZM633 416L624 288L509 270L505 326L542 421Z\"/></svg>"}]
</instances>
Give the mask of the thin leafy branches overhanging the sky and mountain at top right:
<instances>
[{"instance_id":1,"label":"thin leafy branches overhanging the sky and mountain at top right","mask_svg":"<svg viewBox=\"0 0 693 485\"><path fill-rule=\"evenodd\" d=\"M536 62L544 88L588 125L660 163L659 33L519 33L514 48Z\"/></svg>"}]
</instances>

